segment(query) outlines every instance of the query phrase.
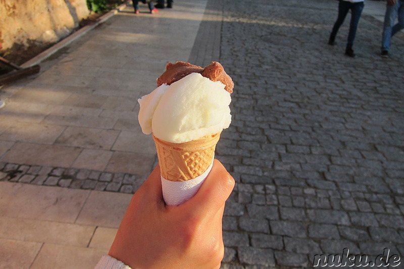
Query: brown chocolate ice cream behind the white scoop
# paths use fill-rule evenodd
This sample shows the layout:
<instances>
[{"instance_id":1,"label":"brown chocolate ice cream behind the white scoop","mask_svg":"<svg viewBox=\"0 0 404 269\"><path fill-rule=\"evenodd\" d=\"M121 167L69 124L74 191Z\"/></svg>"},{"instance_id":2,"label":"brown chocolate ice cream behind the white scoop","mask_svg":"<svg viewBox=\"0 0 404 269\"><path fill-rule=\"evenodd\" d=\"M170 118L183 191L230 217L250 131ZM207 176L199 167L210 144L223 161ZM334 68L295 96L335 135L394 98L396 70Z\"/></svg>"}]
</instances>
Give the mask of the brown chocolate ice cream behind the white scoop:
<instances>
[{"instance_id":1,"label":"brown chocolate ice cream behind the white scoop","mask_svg":"<svg viewBox=\"0 0 404 269\"><path fill-rule=\"evenodd\" d=\"M165 83L170 85L191 73L200 73L211 81L220 81L225 85L226 91L233 92L234 83L218 62L212 62L205 69L185 62L168 63L166 71L157 79L157 85L160 86Z\"/></svg>"}]
</instances>

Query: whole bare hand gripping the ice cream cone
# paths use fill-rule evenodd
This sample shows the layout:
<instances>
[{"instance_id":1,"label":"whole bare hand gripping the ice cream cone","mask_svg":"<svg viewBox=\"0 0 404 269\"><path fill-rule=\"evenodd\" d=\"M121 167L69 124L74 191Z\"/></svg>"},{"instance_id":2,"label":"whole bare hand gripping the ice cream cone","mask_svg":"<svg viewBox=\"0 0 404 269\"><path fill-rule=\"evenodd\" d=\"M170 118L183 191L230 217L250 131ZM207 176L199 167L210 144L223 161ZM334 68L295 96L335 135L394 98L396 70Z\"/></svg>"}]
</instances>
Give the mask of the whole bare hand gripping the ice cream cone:
<instances>
[{"instance_id":1,"label":"whole bare hand gripping the ice cream cone","mask_svg":"<svg viewBox=\"0 0 404 269\"><path fill-rule=\"evenodd\" d=\"M156 167L133 195L109 255L134 269L219 268L223 210L233 187L234 179L215 159L195 196L168 206Z\"/></svg>"}]
</instances>

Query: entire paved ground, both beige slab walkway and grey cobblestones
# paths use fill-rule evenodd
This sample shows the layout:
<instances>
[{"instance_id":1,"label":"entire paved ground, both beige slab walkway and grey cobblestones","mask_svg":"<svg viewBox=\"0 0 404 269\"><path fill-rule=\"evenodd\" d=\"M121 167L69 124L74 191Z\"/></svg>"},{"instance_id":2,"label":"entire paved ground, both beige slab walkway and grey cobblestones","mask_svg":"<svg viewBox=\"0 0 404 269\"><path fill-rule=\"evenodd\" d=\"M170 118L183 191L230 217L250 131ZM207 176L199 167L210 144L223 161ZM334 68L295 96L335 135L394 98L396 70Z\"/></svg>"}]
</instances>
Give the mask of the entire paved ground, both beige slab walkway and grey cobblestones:
<instances>
[{"instance_id":1,"label":"entire paved ground, both beige slab walkway and grey cobblestones","mask_svg":"<svg viewBox=\"0 0 404 269\"><path fill-rule=\"evenodd\" d=\"M223 268L311 268L345 247L404 258L404 34L380 58L385 4L369 0L348 59L348 22L326 44L334 2L129 6L4 87L0 268L90 269L108 252L157 162L136 100L169 61L220 60L235 82Z\"/></svg>"}]
</instances>

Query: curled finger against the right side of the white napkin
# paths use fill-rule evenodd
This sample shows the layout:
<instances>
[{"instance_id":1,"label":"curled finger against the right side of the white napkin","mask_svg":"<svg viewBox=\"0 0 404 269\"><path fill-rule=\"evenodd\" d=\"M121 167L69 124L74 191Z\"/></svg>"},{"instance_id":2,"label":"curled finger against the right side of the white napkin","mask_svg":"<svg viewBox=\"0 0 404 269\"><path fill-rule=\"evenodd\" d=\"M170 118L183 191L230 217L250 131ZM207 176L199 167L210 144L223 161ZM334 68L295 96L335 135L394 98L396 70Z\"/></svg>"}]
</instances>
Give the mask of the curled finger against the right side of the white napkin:
<instances>
[{"instance_id":1,"label":"curled finger against the right side of the white napkin","mask_svg":"<svg viewBox=\"0 0 404 269\"><path fill-rule=\"evenodd\" d=\"M234 188L234 179L219 162L214 160L213 167L204 183L190 200L179 207L193 214L215 214L226 202ZM182 209L181 209L182 210Z\"/></svg>"}]
</instances>

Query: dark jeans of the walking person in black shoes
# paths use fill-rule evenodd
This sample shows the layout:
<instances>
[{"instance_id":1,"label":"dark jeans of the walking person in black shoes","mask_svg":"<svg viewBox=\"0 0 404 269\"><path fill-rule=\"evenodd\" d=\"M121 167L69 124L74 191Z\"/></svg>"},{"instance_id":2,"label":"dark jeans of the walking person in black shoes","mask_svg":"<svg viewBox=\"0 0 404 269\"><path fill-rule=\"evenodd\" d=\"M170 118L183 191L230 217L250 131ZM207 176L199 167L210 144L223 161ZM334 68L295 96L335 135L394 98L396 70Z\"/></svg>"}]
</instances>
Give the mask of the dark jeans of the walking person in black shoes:
<instances>
[{"instance_id":1,"label":"dark jeans of the walking person in black shoes","mask_svg":"<svg viewBox=\"0 0 404 269\"><path fill-rule=\"evenodd\" d=\"M354 45L355 35L357 33L358 23L359 19L361 18L363 7L364 2L351 3L348 1L340 0L338 5L338 18L334 24L334 27L332 28L330 40L335 39L339 27L341 27L342 23L345 20L346 14L348 14L348 11L350 10L351 17L349 24L348 42L346 43L346 48L352 48L352 45Z\"/></svg>"}]
</instances>

